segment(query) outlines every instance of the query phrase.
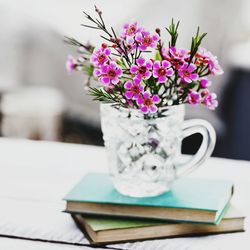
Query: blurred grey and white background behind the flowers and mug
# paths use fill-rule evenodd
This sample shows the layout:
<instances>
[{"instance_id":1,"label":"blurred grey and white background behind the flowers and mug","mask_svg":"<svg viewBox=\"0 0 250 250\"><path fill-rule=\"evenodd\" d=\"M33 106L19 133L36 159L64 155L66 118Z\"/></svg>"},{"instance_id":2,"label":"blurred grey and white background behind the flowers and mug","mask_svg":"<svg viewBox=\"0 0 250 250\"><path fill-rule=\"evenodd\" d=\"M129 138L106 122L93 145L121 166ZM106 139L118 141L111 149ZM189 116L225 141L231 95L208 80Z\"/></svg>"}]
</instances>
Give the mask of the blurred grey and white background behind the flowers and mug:
<instances>
[{"instance_id":1,"label":"blurred grey and white background behind the flowers and mug","mask_svg":"<svg viewBox=\"0 0 250 250\"><path fill-rule=\"evenodd\" d=\"M86 76L65 70L75 48L72 36L98 43L95 30L83 28L82 10L103 12L116 30L138 22L153 31L181 20L179 47L189 47L199 25L203 46L217 55L224 75L213 80L219 107L187 107L186 118L210 121L217 132L215 156L250 160L250 1L249 0L0 0L1 136L102 145L99 103L84 91ZM167 39L167 35L165 37ZM184 141L193 153L200 137Z\"/></svg>"}]
</instances>

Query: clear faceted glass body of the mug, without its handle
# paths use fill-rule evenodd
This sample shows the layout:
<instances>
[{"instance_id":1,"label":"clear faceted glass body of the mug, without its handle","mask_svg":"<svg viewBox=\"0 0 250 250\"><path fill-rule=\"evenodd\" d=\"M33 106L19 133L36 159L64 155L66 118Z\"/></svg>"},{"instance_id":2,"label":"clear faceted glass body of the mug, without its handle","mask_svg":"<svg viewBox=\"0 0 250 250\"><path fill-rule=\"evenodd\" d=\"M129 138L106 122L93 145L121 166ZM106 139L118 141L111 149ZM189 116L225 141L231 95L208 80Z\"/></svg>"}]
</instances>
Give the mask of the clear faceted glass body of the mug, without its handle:
<instances>
[{"instance_id":1,"label":"clear faceted glass body of the mug, without its handle","mask_svg":"<svg viewBox=\"0 0 250 250\"><path fill-rule=\"evenodd\" d=\"M168 191L177 177L184 105L156 114L101 105L101 123L114 187L133 197Z\"/></svg>"}]
</instances>

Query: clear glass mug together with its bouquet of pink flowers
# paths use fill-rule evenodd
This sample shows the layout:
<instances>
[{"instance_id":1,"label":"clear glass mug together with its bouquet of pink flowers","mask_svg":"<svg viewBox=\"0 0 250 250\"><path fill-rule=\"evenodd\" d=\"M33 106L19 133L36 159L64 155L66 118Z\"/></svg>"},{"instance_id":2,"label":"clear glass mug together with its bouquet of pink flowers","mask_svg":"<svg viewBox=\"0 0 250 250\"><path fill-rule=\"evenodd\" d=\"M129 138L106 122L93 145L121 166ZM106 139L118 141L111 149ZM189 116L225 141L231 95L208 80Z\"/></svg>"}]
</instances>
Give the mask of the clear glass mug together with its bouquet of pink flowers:
<instances>
[{"instance_id":1,"label":"clear glass mug together with its bouquet of pink flowers","mask_svg":"<svg viewBox=\"0 0 250 250\"><path fill-rule=\"evenodd\" d=\"M153 196L169 190L179 176L198 167L213 151L215 132L203 120L184 121L184 105L218 106L208 87L209 75L223 73L217 58L202 48L206 33L199 28L189 49L176 46L179 22L172 20L166 32L150 33L137 22L127 23L121 33L103 20L84 12L90 24L102 32L104 42L94 48L74 38L66 41L79 48L77 59L69 56L66 67L89 76L89 94L101 105L102 130L109 149L110 173L118 191L131 196ZM92 86L91 78L95 79ZM179 163L181 141L201 133L197 154Z\"/></svg>"}]
</instances>

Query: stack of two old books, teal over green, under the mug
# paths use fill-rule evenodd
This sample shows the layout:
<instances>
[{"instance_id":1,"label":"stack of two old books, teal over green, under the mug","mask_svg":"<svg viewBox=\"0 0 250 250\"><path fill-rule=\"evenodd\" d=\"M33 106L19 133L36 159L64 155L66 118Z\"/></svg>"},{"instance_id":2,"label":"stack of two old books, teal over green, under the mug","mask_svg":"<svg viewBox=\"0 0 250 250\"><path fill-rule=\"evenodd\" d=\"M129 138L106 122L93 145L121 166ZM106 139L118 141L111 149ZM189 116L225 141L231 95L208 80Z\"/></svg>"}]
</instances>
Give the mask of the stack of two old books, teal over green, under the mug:
<instances>
[{"instance_id":1,"label":"stack of two old books, teal over green, under the mug","mask_svg":"<svg viewBox=\"0 0 250 250\"><path fill-rule=\"evenodd\" d=\"M66 195L65 212L92 244L244 231L232 195L230 181L182 178L162 195L133 198L91 173Z\"/></svg>"}]
</instances>

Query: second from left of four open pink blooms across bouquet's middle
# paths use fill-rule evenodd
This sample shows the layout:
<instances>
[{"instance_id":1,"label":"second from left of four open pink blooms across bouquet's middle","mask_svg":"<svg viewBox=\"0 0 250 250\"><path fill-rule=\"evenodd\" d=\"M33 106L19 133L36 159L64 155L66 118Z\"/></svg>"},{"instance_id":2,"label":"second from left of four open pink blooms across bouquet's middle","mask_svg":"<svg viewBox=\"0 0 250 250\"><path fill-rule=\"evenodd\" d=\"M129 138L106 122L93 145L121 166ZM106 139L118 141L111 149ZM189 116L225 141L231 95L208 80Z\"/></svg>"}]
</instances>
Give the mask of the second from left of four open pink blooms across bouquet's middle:
<instances>
[{"instance_id":1,"label":"second from left of four open pink blooms across bouquet's middle","mask_svg":"<svg viewBox=\"0 0 250 250\"><path fill-rule=\"evenodd\" d=\"M137 65L133 64L130 67L130 72L139 78L149 79L152 75L153 63L151 60L145 60L144 58L139 58L136 60Z\"/></svg>"}]
</instances>

